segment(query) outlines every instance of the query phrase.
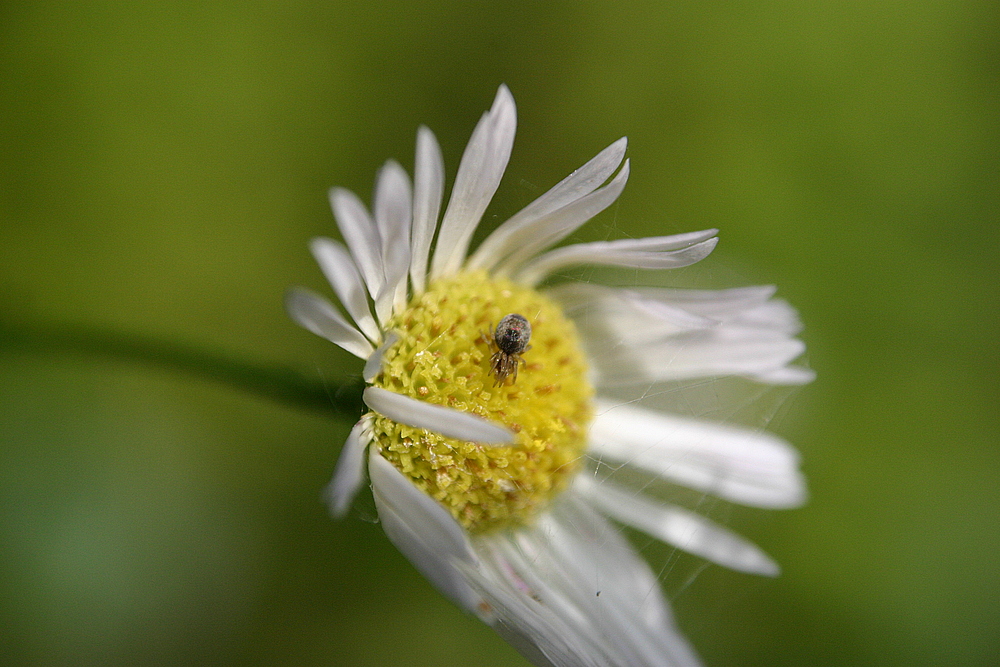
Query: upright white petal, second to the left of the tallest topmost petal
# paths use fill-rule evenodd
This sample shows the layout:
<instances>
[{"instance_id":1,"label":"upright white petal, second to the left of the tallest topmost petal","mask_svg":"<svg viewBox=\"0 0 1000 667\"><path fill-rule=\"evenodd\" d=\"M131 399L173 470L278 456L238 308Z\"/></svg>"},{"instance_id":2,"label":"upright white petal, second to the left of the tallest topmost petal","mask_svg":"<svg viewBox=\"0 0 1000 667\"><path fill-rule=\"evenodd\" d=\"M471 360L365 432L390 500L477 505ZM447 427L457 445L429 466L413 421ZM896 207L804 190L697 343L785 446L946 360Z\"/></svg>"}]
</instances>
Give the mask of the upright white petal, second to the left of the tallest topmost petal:
<instances>
[{"instance_id":1,"label":"upright white petal, second to the left of the tallest topmost petal","mask_svg":"<svg viewBox=\"0 0 1000 667\"><path fill-rule=\"evenodd\" d=\"M406 276L410 272L410 179L399 163L389 160L375 182L375 226L382 239L385 285L375 300L379 321L391 317L393 308L406 307Z\"/></svg>"}]
</instances>

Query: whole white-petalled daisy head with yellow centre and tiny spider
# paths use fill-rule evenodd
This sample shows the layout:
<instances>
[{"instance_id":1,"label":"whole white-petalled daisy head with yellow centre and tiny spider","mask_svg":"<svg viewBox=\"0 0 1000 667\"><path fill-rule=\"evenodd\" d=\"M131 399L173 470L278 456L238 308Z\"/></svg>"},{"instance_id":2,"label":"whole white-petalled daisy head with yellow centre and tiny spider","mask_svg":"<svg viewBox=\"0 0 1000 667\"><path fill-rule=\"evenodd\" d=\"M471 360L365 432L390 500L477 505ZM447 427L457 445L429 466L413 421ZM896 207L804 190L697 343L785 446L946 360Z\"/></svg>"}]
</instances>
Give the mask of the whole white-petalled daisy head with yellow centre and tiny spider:
<instances>
[{"instance_id":1,"label":"whole white-petalled daisy head with yellow centre and tiny spider","mask_svg":"<svg viewBox=\"0 0 1000 667\"><path fill-rule=\"evenodd\" d=\"M298 324L365 362L370 411L344 444L331 510L345 513L367 472L389 539L536 665L697 665L619 524L775 575L760 549L655 490L674 484L787 508L803 502L805 485L796 452L775 436L638 398L698 378L809 381L810 371L789 365L804 349L795 312L769 287L540 287L571 266L670 269L715 247L713 229L550 249L618 198L629 175L625 139L470 254L515 125L501 86L443 215L441 151L425 127L412 186L390 161L371 212L346 190L330 192L346 246L317 238L311 247L346 315L302 289L286 305ZM612 388L617 398L602 399ZM629 392L636 400L621 400ZM629 486L608 470L645 481Z\"/></svg>"}]
</instances>

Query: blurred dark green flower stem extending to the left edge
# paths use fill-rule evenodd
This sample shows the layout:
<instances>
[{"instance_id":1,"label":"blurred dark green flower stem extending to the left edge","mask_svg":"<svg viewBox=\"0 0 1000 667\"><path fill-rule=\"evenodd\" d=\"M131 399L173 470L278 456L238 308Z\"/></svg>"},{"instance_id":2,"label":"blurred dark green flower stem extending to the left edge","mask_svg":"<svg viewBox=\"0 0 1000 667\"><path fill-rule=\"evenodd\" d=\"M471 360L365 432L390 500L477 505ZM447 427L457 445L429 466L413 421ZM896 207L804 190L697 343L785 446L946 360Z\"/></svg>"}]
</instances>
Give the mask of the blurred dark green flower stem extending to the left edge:
<instances>
[{"instance_id":1,"label":"blurred dark green flower stem extending to the left edge","mask_svg":"<svg viewBox=\"0 0 1000 667\"><path fill-rule=\"evenodd\" d=\"M290 368L213 353L193 345L74 324L15 324L0 317L0 354L77 354L120 359L227 384L297 408L356 419L361 378L341 384Z\"/></svg>"}]
</instances>

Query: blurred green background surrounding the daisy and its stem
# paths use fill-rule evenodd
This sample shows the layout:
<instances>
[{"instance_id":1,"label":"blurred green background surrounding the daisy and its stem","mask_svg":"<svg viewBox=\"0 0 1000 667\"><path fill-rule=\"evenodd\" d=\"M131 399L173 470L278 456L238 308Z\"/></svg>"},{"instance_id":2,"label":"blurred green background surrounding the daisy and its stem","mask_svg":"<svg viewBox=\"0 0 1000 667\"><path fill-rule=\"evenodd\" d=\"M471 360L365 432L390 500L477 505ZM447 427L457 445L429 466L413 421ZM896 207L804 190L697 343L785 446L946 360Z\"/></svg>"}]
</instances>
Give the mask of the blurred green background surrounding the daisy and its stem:
<instances>
[{"instance_id":1,"label":"blurred green background surrounding the daisy and its stem","mask_svg":"<svg viewBox=\"0 0 1000 667\"><path fill-rule=\"evenodd\" d=\"M813 385L771 427L801 510L734 515L784 567L671 589L709 667L1000 655L1000 5L0 4L0 307L274 362L326 190L415 131L449 177L506 82L488 217L621 135L577 238L719 227L685 278L776 283ZM521 665L377 525L320 502L350 427L127 360L0 351L0 662Z\"/></svg>"}]
</instances>

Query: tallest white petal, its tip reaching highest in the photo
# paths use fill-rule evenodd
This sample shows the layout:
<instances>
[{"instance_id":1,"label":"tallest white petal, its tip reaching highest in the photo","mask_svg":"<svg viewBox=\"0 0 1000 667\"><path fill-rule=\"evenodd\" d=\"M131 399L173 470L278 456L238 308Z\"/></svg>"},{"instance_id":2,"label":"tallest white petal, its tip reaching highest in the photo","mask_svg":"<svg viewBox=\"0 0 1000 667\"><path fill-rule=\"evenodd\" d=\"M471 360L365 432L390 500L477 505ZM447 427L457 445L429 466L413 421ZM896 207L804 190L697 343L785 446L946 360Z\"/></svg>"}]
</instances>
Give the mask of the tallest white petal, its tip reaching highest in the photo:
<instances>
[{"instance_id":1,"label":"tallest white petal, its tip reaching highest in the photo","mask_svg":"<svg viewBox=\"0 0 1000 667\"><path fill-rule=\"evenodd\" d=\"M462 266L472 233L507 168L516 126L514 98L507 86L500 86L493 108L480 119L462 155L441 221L431 277L450 275Z\"/></svg>"}]
</instances>

